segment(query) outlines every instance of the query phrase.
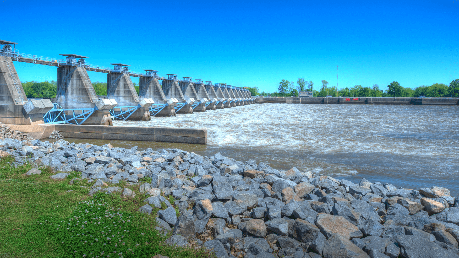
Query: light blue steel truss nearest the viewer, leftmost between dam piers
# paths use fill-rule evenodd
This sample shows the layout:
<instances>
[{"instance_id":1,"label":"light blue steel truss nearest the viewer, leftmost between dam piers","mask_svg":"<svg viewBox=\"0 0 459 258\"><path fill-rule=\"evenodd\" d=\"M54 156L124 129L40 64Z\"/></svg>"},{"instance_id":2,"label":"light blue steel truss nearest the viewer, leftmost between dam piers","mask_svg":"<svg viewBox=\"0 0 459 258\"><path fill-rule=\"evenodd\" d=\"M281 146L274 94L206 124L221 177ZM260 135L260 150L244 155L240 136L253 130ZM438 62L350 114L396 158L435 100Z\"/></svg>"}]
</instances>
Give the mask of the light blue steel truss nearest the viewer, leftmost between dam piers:
<instances>
[{"instance_id":1,"label":"light blue steel truss nearest the viewer, leftmost between dam piers","mask_svg":"<svg viewBox=\"0 0 459 258\"><path fill-rule=\"evenodd\" d=\"M45 123L82 124L97 110L97 107L64 109L57 103L53 105L54 107L43 115Z\"/></svg>"}]
</instances>

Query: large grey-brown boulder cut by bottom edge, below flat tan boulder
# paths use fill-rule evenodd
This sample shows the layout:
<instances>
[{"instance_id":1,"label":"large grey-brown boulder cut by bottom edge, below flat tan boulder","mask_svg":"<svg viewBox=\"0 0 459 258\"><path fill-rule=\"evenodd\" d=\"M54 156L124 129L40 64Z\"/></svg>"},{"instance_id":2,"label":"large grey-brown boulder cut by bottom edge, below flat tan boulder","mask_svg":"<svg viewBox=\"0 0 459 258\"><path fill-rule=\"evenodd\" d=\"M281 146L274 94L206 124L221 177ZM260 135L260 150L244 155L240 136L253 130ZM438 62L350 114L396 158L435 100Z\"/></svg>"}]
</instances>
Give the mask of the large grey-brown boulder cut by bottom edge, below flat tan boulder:
<instances>
[{"instance_id":1,"label":"large grey-brown boulder cut by bottom edge, below flat tan boulder","mask_svg":"<svg viewBox=\"0 0 459 258\"><path fill-rule=\"evenodd\" d=\"M366 252L354 245L347 237L332 234L325 242L324 257L369 257Z\"/></svg>"}]
</instances>

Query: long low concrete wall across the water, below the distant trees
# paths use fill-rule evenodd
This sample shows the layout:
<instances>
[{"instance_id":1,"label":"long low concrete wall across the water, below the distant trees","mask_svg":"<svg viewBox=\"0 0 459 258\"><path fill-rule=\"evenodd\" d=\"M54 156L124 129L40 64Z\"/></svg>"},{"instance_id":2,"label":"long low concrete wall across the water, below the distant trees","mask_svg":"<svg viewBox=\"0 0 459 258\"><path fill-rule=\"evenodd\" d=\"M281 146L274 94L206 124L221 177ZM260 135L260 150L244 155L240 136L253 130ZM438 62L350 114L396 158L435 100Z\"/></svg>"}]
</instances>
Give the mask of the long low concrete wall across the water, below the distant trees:
<instances>
[{"instance_id":1,"label":"long low concrete wall across the water, below the distant trees","mask_svg":"<svg viewBox=\"0 0 459 258\"><path fill-rule=\"evenodd\" d=\"M255 97L255 103L286 104L369 104L369 105L459 105L459 98L404 97Z\"/></svg>"}]
</instances>

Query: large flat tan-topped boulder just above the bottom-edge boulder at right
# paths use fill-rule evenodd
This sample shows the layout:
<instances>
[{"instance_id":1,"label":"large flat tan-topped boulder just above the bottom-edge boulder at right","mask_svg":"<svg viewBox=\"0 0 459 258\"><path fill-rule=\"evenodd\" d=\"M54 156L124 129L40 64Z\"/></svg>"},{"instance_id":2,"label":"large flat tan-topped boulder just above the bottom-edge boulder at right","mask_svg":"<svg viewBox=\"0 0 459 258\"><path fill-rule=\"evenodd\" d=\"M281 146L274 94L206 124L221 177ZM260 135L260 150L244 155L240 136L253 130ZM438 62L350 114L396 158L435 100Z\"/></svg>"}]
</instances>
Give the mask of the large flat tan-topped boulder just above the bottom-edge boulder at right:
<instances>
[{"instance_id":1,"label":"large flat tan-topped boulder just above the bottom-edge boulder at right","mask_svg":"<svg viewBox=\"0 0 459 258\"><path fill-rule=\"evenodd\" d=\"M363 236L358 227L341 216L321 213L317 215L315 224L327 238L335 233L340 234L347 239Z\"/></svg>"}]
</instances>

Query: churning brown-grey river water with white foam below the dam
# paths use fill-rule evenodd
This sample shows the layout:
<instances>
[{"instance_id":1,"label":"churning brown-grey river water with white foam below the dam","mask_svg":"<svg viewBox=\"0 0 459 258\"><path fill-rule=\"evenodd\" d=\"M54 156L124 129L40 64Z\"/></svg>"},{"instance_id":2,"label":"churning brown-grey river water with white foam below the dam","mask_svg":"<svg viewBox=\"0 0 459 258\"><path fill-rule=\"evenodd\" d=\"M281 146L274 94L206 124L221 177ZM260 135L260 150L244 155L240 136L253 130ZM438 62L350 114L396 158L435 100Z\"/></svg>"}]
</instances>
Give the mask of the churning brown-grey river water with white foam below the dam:
<instances>
[{"instance_id":1,"label":"churning brown-grey river water with white foam below the dam","mask_svg":"<svg viewBox=\"0 0 459 258\"><path fill-rule=\"evenodd\" d=\"M266 103L114 125L207 128L207 146L154 147L205 156L221 152L352 181L365 177L413 189L438 185L459 196L458 112L458 106Z\"/></svg>"}]
</instances>

